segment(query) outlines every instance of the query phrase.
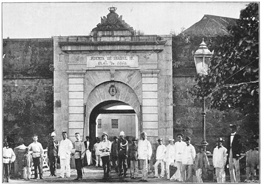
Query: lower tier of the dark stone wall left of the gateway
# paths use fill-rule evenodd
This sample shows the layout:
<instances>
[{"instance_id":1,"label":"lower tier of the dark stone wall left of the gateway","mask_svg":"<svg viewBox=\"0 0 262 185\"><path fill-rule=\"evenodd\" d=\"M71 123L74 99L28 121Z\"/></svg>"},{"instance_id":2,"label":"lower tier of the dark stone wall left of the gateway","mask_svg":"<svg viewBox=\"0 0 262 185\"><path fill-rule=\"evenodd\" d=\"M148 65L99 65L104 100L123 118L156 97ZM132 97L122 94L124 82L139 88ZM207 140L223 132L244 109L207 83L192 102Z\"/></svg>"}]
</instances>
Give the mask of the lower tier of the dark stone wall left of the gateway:
<instances>
[{"instance_id":1,"label":"lower tier of the dark stone wall left of the gateway","mask_svg":"<svg viewBox=\"0 0 262 185\"><path fill-rule=\"evenodd\" d=\"M10 133L14 146L28 146L38 134L47 147L53 129L53 79L4 79L3 107L4 138Z\"/></svg>"}]
</instances>

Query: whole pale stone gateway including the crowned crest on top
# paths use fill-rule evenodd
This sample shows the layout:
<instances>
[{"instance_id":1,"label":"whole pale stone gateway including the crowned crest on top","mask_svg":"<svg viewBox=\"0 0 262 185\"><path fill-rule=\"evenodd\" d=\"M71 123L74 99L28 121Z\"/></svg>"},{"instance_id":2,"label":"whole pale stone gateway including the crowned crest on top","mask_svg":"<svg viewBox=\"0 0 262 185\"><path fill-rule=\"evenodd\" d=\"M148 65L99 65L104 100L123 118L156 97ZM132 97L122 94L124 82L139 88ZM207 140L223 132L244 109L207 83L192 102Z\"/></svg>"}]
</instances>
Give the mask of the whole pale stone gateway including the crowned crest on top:
<instances>
[{"instance_id":1,"label":"whole pale stone gateway including the crowned crest on top","mask_svg":"<svg viewBox=\"0 0 262 185\"><path fill-rule=\"evenodd\" d=\"M134 136L145 131L152 144L166 142L173 137L171 35L135 35L116 8L108 10L90 36L54 37L54 128L72 142L76 132L94 142L99 114L133 113ZM133 110L108 109L116 105Z\"/></svg>"}]
</instances>

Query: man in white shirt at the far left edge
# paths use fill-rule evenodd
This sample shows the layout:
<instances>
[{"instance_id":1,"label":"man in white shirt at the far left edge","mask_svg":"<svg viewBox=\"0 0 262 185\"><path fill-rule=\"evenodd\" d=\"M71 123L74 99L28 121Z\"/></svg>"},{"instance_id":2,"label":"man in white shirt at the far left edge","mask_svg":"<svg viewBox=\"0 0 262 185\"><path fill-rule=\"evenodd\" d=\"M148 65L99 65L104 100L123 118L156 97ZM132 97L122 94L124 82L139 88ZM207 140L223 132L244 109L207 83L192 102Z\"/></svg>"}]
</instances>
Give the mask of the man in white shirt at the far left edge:
<instances>
[{"instance_id":1,"label":"man in white shirt at the far left edge","mask_svg":"<svg viewBox=\"0 0 262 185\"><path fill-rule=\"evenodd\" d=\"M9 182L9 173L11 170L11 164L15 160L15 154L12 148L9 148L7 142L4 142L3 148L3 173L4 173L4 182Z\"/></svg>"}]
</instances>

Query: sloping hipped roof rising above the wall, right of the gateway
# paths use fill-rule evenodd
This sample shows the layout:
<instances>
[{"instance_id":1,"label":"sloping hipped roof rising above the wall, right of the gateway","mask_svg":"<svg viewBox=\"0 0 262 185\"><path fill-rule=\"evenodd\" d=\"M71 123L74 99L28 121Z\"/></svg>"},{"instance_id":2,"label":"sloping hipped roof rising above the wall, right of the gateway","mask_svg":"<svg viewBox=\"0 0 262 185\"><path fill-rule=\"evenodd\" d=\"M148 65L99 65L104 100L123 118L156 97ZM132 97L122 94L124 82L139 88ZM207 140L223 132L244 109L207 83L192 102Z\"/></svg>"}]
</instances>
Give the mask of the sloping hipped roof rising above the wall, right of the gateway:
<instances>
[{"instance_id":1,"label":"sloping hipped roof rising above the wall, right of the gateway","mask_svg":"<svg viewBox=\"0 0 262 185\"><path fill-rule=\"evenodd\" d=\"M205 36L228 35L228 26L236 24L236 20L230 17L204 15L200 21L186 29L183 33Z\"/></svg>"}]
</instances>

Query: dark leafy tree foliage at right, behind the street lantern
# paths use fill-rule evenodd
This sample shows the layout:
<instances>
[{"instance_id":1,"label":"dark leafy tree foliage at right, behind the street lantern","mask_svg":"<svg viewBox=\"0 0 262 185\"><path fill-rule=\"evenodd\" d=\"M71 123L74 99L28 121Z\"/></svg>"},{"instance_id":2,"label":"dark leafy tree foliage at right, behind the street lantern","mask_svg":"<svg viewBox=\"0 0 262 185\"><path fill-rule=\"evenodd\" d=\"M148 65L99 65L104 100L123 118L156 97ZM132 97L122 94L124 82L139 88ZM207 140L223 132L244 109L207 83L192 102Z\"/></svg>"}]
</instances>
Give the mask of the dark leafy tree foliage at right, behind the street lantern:
<instances>
[{"instance_id":1,"label":"dark leafy tree foliage at right, behind the street lantern","mask_svg":"<svg viewBox=\"0 0 262 185\"><path fill-rule=\"evenodd\" d=\"M259 16L258 4L241 11L229 36L213 44L214 56L209 73L198 75L193 94L211 98L211 107L239 108L246 115L259 113Z\"/></svg>"}]
</instances>

